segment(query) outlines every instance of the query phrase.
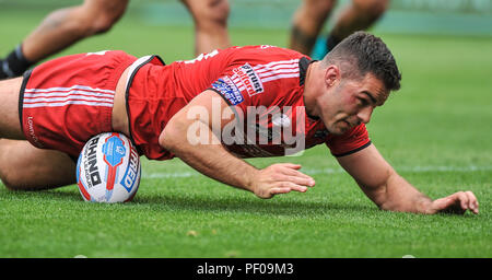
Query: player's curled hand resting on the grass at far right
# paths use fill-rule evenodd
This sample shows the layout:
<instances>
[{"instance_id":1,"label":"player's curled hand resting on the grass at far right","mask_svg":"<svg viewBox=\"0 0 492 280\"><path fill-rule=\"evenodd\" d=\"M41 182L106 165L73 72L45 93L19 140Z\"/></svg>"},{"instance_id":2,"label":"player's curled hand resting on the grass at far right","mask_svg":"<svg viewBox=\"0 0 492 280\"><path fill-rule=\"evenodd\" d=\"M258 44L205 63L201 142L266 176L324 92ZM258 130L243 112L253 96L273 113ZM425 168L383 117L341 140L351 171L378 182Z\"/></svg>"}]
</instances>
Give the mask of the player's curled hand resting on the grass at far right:
<instances>
[{"instance_id":1,"label":"player's curled hand resting on the grass at far right","mask_svg":"<svg viewBox=\"0 0 492 280\"><path fill-rule=\"evenodd\" d=\"M464 214L467 210L478 214L478 200L471 191L458 191L450 196L432 201L430 213L445 212Z\"/></svg>"}]
</instances>

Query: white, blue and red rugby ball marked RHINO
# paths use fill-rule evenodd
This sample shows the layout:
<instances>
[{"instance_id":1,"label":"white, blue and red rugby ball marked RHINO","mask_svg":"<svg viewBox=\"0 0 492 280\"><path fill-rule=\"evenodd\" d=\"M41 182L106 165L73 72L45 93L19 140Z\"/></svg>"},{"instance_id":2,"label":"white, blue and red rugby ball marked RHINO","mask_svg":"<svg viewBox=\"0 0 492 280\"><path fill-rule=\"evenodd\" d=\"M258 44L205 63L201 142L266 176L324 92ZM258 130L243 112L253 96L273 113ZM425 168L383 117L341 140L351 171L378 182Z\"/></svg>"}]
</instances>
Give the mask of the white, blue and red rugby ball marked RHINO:
<instances>
[{"instance_id":1,"label":"white, blue and red rugby ball marked RHINO","mask_svg":"<svg viewBox=\"0 0 492 280\"><path fill-rule=\"evenodd\" d=\"M136 147L118 132L91 138L77 162L77 184L85 201L129 201L137 194L140 174Z\"/></svg>"}]
</instances>

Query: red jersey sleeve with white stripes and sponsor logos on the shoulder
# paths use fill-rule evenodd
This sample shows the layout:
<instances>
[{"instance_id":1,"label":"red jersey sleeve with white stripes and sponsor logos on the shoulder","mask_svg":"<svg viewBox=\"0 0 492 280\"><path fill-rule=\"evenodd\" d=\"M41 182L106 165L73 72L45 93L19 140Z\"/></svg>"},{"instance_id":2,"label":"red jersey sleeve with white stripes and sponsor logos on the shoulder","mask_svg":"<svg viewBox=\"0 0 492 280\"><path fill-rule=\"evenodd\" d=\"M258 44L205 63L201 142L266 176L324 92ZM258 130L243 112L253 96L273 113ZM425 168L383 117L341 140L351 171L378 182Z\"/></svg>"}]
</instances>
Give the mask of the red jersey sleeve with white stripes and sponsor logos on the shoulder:
<instances>
[{"instance_id":1,"label":"red jersey sleeve with white stripes and sponsor logos on the shoulder","mask_svg":"<svg viewBox=\"0 0 492 280\"><path fill-rule=\"evenodd\" d=\"M237 48L210 89L235 113L248 107L281 106L298 88L301 54L273 46Z\"/></svg>"}]
</instances>

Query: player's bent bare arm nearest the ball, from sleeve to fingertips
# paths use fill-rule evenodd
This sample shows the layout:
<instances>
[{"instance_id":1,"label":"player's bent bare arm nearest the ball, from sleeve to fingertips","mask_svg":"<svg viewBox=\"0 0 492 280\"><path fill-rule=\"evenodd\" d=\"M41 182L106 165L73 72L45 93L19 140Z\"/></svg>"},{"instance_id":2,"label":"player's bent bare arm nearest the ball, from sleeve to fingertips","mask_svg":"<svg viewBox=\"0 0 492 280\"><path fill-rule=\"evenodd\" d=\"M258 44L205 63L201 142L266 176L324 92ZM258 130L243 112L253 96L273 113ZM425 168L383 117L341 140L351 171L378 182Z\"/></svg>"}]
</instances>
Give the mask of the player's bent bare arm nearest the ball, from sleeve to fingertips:
<instances>
[{"instance_id":1,"label":"player's bent bare arm nearest the ball, from sleeve to fingertips","mask_svg":"<svg viewBox=\"0 0 492 280\"><path fill-rule=\"evenodd\" d=\"M314 179L298 171L300 165L280 163L258 170L231 154L219 137L233 120L224 100L208 90L171 118L159 142L200 173L260 198L292 190L304 192L314 186Z\"/></svg>"}]
</instances>

